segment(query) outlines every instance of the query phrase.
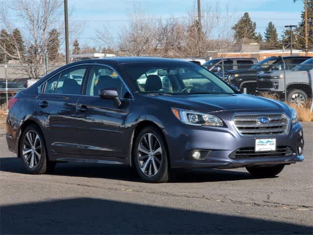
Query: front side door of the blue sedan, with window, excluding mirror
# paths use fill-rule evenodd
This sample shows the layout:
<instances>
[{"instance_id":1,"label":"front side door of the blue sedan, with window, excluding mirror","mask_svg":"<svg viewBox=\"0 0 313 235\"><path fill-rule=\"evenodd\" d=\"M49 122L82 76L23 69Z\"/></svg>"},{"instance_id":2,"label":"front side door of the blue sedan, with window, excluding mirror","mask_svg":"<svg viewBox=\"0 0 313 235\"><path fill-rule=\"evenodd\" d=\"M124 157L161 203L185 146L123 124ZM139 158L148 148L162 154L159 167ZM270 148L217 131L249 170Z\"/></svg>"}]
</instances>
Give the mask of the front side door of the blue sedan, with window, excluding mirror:
<instances>
[{"instance_id":1,"label":"front side door of the blue sedan, with window, excluding mirror","mask_svg":"<svg viewBox=\"0 0 313 235\"><path fill-rule=\"evenodd\" d=\"M93 65L85 82L85 95L77 103L78 146L81 155L90 158L125 158L125 120L130 93L125 90L121 77L111 67ZM101 99L99 89L116 89L121 105ZM126 95L126 96L125 96Z\"/></svg>"}]
</instances>

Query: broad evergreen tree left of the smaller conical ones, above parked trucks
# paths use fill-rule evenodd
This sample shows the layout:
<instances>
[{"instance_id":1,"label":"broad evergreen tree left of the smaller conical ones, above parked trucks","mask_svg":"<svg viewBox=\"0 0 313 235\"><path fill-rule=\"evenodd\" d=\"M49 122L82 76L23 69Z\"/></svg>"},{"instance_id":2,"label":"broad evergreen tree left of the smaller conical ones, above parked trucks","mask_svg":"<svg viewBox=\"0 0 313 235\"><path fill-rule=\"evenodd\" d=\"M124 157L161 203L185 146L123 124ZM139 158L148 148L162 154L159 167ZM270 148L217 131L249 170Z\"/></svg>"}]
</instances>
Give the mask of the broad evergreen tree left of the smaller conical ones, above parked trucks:
<instances>
[{"instance_id":1,"label":"broad evergreen tree left of the smaller conical ones, above parked trucks","mask_svg":"<svg viewBox=\"0 0 313 235\"><path fill-rule=\"evenodd\" d=\"M244 16L239 19L232 29L235 31L234 38L237 42L243 42L246 39L256 40L257 35L255 33L256 23L251 21L249 13L245 12Z\"/></svg>"}]
</instances>

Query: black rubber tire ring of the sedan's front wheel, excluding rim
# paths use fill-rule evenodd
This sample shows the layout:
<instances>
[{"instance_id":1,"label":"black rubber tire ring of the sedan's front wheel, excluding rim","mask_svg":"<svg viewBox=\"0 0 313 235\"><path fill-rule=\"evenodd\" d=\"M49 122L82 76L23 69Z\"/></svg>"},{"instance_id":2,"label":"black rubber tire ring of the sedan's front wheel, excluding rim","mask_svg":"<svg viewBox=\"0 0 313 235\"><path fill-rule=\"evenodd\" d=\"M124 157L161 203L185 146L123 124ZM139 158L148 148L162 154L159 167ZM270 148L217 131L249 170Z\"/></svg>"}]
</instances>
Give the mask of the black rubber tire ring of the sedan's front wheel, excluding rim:
<instances>
[{"instance_id":1,"label":"black rubber tire ring of the sedan's front wheel, excluding rim","mask_svg":"<svg viewBox=\"0 0 313 235\"><path fill-rule=\"evenodd\" d=\"M159 171L157 172L156 175L154 176L147 176L145 175L141 169L140 165L138 163L138 145L139 141L141 138L145 135L151 133L156 136L157 140L159 141L161 148L162 148L162 162L161 166L159 168ZM133 157L134 157L134 165L136 167L137 173L139 176L146 182L149 183L159 183L159 182L166 182L168 180L168 159L167 159L167 150L166 150L166 145L164 138L162 134L160 133L159 130L157 130L155 127L145 127L142 129L139 134L136 136L136 140L134 142L134 152L133 152Z\"/></svg>"}]
</instances>

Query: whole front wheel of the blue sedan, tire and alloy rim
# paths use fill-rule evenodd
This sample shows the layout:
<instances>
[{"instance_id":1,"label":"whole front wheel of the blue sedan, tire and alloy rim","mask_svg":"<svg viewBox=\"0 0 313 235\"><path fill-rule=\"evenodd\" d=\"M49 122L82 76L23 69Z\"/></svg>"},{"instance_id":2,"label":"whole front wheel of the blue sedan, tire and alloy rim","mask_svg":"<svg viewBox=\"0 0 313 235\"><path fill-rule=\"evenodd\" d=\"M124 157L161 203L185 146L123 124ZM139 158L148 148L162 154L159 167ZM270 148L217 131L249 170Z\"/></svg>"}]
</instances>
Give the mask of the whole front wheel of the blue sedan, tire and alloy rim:
<instances>
[{"instance_id":1,"label":"whole front wheel of the blue sedan, tire and alloy rim","mask_svg":"<svg viewBox=\"0 0 313 235\"><path fill-rule=\"evenodd\" d=\"M168 182L167 150L164 138L158 129L149 126L139 132L135 139L133 156L137 173L143 181Z\"/></svg>"}]
</instances>

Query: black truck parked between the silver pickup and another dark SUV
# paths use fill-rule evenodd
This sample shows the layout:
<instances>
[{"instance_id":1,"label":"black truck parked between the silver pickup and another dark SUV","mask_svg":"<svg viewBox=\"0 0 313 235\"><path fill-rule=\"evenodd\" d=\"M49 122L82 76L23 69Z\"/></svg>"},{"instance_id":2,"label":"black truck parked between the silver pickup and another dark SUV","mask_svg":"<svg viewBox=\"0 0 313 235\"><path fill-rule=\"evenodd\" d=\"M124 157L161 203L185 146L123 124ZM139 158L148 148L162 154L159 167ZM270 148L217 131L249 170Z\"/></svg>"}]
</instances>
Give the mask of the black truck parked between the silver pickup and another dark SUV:
<instances>
[{"instance_id":1,"label":"black truck parked between the silver pickup and another dark SUV","mask_svg":"<svg viewBox=\"0 0 313 235\"><path fill-rule=\"evenodd\" d=\"M230 84L238 87L241 91L246 88L247 94L256 94L258 74L263 72L291 70L311 57L309 56L271 56L261 60L250 69L230 70L227 72L227 79Z\"/></svg>"}]
</instances>

